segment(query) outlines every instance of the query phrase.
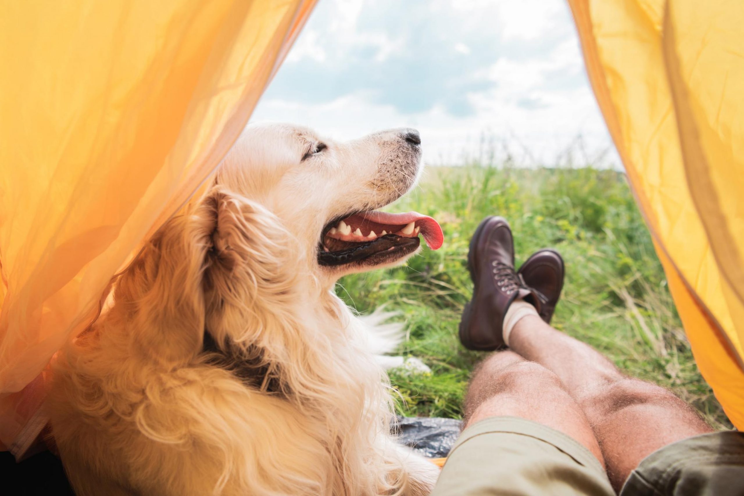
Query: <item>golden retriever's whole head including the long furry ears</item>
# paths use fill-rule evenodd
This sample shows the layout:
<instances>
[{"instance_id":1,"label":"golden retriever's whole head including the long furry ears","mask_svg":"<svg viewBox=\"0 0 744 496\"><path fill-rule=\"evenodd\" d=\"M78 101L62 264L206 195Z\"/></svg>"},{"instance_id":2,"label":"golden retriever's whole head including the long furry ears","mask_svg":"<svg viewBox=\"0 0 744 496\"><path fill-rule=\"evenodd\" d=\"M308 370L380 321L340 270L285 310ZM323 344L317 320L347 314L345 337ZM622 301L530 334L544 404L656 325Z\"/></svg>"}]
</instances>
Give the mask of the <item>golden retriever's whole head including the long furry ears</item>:
<instances>
[{"instance_id":1,"label":"golden retriever's whole head including the long furry ears","mask_svg":"<svg viewBox=\"0 0 744 496\"><path fill-rule=\"evenodd\" d=\"M298 321L312 318L341 275L400 263L418 250L419 234L441 245L434 219L373 210L413 186L420 159L414 129L341 143L305 128L249 126L210 189L158 231L117 283L135 341L173 361L198 352L207 329L220 346L286 361L266 353L302 342L287 332L299 332Z\"/></svg>"}]
</instances>

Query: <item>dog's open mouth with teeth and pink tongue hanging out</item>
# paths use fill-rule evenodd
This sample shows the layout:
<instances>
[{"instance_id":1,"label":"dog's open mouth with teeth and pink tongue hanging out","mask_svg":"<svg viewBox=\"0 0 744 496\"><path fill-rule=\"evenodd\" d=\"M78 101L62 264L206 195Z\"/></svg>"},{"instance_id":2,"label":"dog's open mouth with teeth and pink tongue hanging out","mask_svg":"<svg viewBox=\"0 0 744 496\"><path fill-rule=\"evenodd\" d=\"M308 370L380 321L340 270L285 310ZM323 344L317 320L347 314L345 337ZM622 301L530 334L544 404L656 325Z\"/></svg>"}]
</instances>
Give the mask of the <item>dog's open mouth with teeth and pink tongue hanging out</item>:
<instances>
[{"instance_id":1,"label":"dog's open mouth with teeth and pink tongue hanging out","mask_svg":"<svg viewBox=\"0 0 744 496\"><path fill-rule=\"evenodd\" d=\"M417 212L371 210L354 213L336 219L324 228L318 247L318 263L388 263L416 251L420 244L419 234L432 250L439 248L444 241L439 223Z\"/></svg>"}]
</instances>

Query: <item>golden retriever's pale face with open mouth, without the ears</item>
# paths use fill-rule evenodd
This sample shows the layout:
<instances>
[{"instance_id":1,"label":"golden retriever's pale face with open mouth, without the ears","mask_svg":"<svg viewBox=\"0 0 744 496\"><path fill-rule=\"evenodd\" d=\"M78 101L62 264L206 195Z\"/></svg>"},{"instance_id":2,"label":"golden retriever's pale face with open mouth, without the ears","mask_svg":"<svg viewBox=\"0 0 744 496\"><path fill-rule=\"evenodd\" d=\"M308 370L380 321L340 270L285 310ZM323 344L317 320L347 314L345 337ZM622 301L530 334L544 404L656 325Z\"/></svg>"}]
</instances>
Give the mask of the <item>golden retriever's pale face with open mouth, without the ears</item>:
<instances>
[{"instance_id":1,"label":"golden retriever's pale face with open mouth, without the ears","mask_svg":"<svg viewBox=\"0 0 744 496\"><path fill-rule=\"evenodd\" d=\"M249 126L217 174L217 183L260 202L309 255L321 278L400 263L419 248L419 234L439 248L430 217L381 213L416 182L421 170L415 129L391 129L339 142L311 129Z\"/></svg>"}]
</instances>

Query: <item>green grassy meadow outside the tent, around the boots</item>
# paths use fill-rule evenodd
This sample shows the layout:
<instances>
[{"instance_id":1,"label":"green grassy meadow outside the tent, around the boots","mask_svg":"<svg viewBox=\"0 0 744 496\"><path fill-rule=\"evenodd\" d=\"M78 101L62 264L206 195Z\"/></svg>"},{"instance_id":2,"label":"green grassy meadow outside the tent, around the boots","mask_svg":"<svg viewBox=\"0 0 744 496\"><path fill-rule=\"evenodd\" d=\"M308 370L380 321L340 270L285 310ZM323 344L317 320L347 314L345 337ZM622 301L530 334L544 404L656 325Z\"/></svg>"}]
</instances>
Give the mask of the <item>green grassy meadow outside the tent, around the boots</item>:
<instances>
[{"instance_id":1,"label":"green grassy meadow outside the tent, around the boots","mask_svg":"<svg viewBox=\"0 0 744 496\"><path fill-rule=\"evenodd\" d=\"M603 352L632 376L673 390L715 428L731 428L702 380L684 338L650 235L623 175L611 170L431 167L420 186L390 207L417 210L442 225L438 251L407 265L340 281L340 297L359 312L402 312L400 352L421 358L432 376L391 373L407 416L461 416L469 374L483 353L458 341L472 283L469 238L487 215L506 217L519 266L539 248L567 265L553 324Z\"/></svg>"}]
</instances>

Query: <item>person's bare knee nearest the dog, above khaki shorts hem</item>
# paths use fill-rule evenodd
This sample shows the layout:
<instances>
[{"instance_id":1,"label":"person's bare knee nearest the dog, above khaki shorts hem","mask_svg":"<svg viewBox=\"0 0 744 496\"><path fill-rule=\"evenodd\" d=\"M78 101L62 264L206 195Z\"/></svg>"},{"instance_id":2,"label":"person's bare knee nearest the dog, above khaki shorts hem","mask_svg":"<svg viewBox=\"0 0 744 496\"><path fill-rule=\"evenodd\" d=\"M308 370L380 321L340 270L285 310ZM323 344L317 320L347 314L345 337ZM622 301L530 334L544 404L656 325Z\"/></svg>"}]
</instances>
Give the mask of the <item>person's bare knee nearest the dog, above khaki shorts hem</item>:
<instances>
[{"instance_id":1,"label":"person's bare knee nearest the dog, above khaki shorts hem","mask_svg":"<svg viewBox=\"0 0 744 496\"><path fill-rule=\"evenodd\" d=\"M473 373L464 402L464 426L491 416L517 416L576 439L604 466L600 446L580 406L558 377L510 351L496 352Z\"/></svg>"}]
</instances>

